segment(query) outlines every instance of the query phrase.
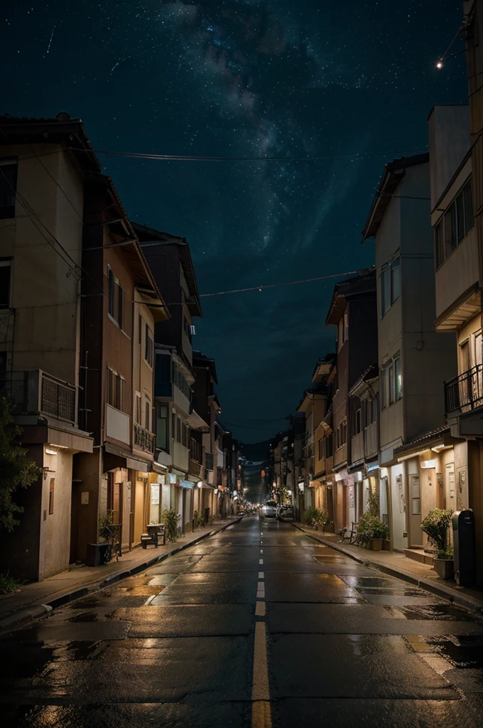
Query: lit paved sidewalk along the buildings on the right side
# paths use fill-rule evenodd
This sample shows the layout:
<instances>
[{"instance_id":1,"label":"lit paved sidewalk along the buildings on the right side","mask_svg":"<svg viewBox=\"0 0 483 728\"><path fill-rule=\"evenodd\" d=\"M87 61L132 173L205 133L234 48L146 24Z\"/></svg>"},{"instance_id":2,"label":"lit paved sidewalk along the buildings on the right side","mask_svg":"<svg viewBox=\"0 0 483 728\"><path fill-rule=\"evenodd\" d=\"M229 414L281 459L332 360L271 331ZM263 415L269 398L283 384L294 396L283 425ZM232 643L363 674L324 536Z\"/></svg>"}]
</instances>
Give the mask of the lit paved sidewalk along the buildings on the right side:
<instances>
[{"instance_id":1,"label":"lit paved sidewalk along the buildings on the right side","mask_svg":"<svg viewBox=\"0 0 483 728\"><path fill-rule=\"evenodd\" d=\"M314 531L314 529L303 526L301 523L292 523L292 525L316 539L316 541L340 551L340 553L353 558L354 561L359 561L364 566L372 566L373 569L383 571L391 577L404 579L404 581L418 585L422 589L436 594L436 596L448 599L454 604L466 607L466 609L471 609L472 612L483 614L483 590L467 589L458 587L455 582L446 582L444 579L439 578L431 566L412 561L402 553L370 551L360 546L349 545L347 540L342 544L339 543L339 535Z\"/></svg>"}]
</instances>

